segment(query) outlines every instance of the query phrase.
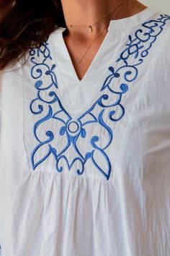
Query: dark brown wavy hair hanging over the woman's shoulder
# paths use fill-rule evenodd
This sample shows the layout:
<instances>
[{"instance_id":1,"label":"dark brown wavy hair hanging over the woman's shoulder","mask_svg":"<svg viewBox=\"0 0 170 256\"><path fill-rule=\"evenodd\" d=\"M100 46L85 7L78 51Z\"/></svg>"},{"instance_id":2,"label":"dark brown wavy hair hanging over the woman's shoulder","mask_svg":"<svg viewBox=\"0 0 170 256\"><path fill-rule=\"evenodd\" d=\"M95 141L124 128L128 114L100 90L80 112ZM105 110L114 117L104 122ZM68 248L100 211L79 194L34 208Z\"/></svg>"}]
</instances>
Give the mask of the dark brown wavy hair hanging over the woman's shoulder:
<instances>
[{"instance_id":1,"label":"dark brown wavy hair hanging over the woman's shoulder","mask_svg":"<svg viewBox=\"0 0 170 256\"><path fill-rule=\"evenodd\" d=\"M0 70L66 27L61 0L0 0Z\"/></svg>"}]
</instances>

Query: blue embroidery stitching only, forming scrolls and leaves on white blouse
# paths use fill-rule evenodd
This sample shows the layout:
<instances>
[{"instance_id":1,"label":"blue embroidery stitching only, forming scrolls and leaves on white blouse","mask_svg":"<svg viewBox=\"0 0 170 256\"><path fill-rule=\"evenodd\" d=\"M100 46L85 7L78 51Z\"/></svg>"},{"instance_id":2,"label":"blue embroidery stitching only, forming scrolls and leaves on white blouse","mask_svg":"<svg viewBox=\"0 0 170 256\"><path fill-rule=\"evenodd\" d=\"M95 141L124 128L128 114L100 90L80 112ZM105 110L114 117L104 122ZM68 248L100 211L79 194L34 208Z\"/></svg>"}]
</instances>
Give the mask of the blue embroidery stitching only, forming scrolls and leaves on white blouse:
<instances>
[{"instance_id":1,"label":"blue embroidery stitching only, forming scrolls and leaves on white blouse","mask_svg":"<svg viewBox=\"0 0 170 256\"><path fill-rule=\"evenodd\" d=\"M100 171L107 180L109 179L111 172L111 163L109 161L109 157L104 152L104 150L106 150L111 144L113 132L112 129L104 121L104 113L105 111L107 111L107 109L109 109L109 120L120 121L120 119L122 119L122 116L124 116L125 114L125 108L121 104L122 95L127 93L128 91L128 82L133 82L136 77L138 77L138 65L142 64L143 59L148 56L148 50L156 41L157 36L162 32L164 25L166 25L166 20L170 20L170 16L167 14L161 14L157 20L149 20L148 22L144 22L142 25L143 29L136 30L134 36L129 35L129 43L126 44L127 47L124 51L122 51L120 57L116 60L116 63L120 63L121 66L117 70L115 70L114 67L109 67L109 71L111 72L111 74L109 74L109 76L106 78L100 90L101 92L104 91L104 94L101 95L97 99L97 101L94 102L91 108L84 112L84 114L81 114L81 116L79 116L79 118L76 120L72 119L71 115L69 115L65 108L63 108L62 103L58 98L58 95L55 93L55 89L58 88L58 82L54 71L55 64L53 64L51 67L47 64L48 59L50 59L50 61L53 60L50 55L50 49L48 48L48 38L45 40L44 43L42 43L39 48L33 48L30 50L30 61L33 64L33 67L31 69L31 76L34 80L36 80L35 90L37 90L37 98L33 99L30 102L30 111L32 111L32 114L35 115L39 115L43 112L48 111L47 114L45 114L44 117L38 120L33 127L33 132L38 142L37 146L31 154L33 170L35 170L35 168L40 165L40 163L45 161L45 159L47 159L50 154L53 154L53 157L56 161L55 167L58 172L63 171L63 166L59 166L61 159L64 159L66 161L69 171L71 170L74 163L79 163L81 166L80 168L76 169L76 173L78 175L84 173L84 166L86 164L86 161L91 160L91 162L94 163L94 166L96 166L98 171ZM141 35L144 36L143 39L140 38ZM40 56L43 58L43 61L38 63L37 60ZM136 60L136 63L133 65L128 64L128 59L130 58L130 56L133 56L134 60ZM35 57L37 58L37 60L35 60ZM44 74L42 70L45 69L46 71ZM121 73L124 74L123 77L125 82L120 84L119 89L116 90L114 80L120 77ZM43 84L43 76L50 77L50 84ZM50 90L48 96L52 98L52 100L49 101L45 100L42 94L45 91L48 92L48 90ZM110 98L112 99L112 104L107 103ZM38 104L36 105L36 103ZM59 108L59 111L55 111L55 113L53 113L54 103L58 104ZM36 111L33 109L34 106L36 106ZM97 115L94 116L92 111L96 107L98 107L99 109L101 108L101 110ZM42 141L40 140L40 135L37 132L37 128L40 126L40 124L51 119L55 119L56 121L58 121L58 124L61 125L61 128L59 129L58 133L55 133L55 135L50 130L45 132L45 135L48 137L48 139ZM71 130L71 124L76 124L76 129ZM83 139L86 138L86 128L88 128L90 124L99 124L100 127L103 127L109 135L109 140L107 141L107 145L102 145L99 147L99 145L97 145L97 142L100 142L101 145L101 138L99 138L97 135L91 135L90 144L92 146L92 150L89 150L88 152L86 152L85 155L83 155L83 153L80 152L77 142L79 142L80 137L82 137ZM64 136L67 139L67 143L63 150L61 150L61 152L58 152L57 147L53 148L50 145L50 142L57 135ZM41 150L44 145L48 145L48 152L44 155L42 159L35 163L35 153ZM66 153L66 150L68 150L71 145L73 145L76 157L73 158L73 161L68 161L64 153ZM99 166L99 163L97 163L95 159L95 154L98 154L99 158L104 157L105 163L107 163L106 170Z\"/></svg>"}]
</instances>

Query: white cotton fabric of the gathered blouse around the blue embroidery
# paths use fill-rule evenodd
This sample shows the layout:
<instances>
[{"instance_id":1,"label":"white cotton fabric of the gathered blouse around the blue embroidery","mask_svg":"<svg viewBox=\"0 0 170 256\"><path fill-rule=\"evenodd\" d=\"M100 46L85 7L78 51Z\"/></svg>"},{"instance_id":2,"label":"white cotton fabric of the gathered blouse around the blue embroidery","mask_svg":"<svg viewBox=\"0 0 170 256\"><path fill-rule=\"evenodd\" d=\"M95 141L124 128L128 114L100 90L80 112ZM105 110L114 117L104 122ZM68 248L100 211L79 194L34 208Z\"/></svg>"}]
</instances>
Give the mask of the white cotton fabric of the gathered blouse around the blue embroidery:
<instances>
[{"instance_id":1,"label":"white cotton fabric of the gathered blouse around the blue embroidery","mask_svg":"<svg viewBox=\"0 0 170 256\"><path fill-rule=\"evenodd\" d=\"M161 15L166 22L158 21ZM51 59L45 62L47 66L42 64L42 46L39 55L37 49L32 55L37 64L34 69L30 55L23 67L18 63L1 74L1 256L170 255L170 17L165 15L148 7L131 17L112 20L81 81L63 41L63 27L55 27L48 38ZM143 22L151 20L143 27ZM109 88L119 93L108 87L101 91L111 70L125 66L125 61L116 60L128 47L129 35L135 38L138 29L143 30L138 33L140 44L135 41L129 58L124 59L128 67L120 69L120 77L109 83ZM152 35L149 40L148 33ZM137 46L143 47L135 56ZM144 50L148 55L141 57ZM143 62L135 66L140 59ZM48 67L53 64L56 66L49 73ZM129 72L128 80L135 79L125 81L125 72ZM59 101L48 103L55 97L49 95L55 78L58 88L53 87L53 92L61 105ZM42 85L37 82L40 80ZM35 82L44 88L40 91L44 101L32 103L35 113L43 108L39 114L30 109L37 98ZM125 114L119 121L112 121L110 111L115 111L115 119L122 113L120 105L109 107L117 101L122 83L128 85L121 98ZM102 99L107 107L97 105L89 114L103 94L109 97ZM60 111L61 106L65 113ZM107 128L99 123L102 109ZM49 118L50 111L57 114ZM70 135L66 137L66 131L60 134L66 111L74 121L72 131L80 124L77 119L82 114L86 113L84 122L96 118L84 125L86 136L79 135L77 150L73 143L66 149ZM37 122L45 116L47 119L39 125ZM92 145L94 136L98 140ZM40 146L41 142L44 144ZM34 163L39 164L33 169L35 148ZM64 148L65 158L58 163L63 167L60 172L53 153ZM93 158L88 158L84 172L77 174L76 170L82 168L80 158L91 152ZM79 159L69 169L66 159L71 165L76 157Z\"/></svg>"}]
</instances>

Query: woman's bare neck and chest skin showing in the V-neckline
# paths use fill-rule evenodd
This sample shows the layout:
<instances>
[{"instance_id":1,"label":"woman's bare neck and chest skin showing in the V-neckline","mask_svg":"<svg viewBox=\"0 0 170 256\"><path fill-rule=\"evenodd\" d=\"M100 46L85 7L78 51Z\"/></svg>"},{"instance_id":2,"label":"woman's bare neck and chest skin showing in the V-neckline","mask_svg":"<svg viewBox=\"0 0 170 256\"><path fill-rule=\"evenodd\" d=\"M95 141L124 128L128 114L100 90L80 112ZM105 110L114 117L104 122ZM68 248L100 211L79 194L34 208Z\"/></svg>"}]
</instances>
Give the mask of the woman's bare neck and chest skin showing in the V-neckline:
<instances>
[{"instance_id":1,"label":"woman's bare neck and chest skin showing in the V-neckline","mask_svg":"<svg viewBox=\"0 0 170 256\"><path fill-rule=\"evenodd\" d=\"M63 5L63 13L66 24L89 25L97 22L97 20L99 20L101 17L104 17L104 15L112 10L120 2L120 0L61 0L61 2ZM84 74L89 68L91 61L97 54L97 51L99 50L99 47L107 34L107 23L109 20L112 20L112 17L115 16L115 12L117 12L119 8L120 7L117 7L117 9L105 17L104 20L99 22L97 25L94 25L93 33L89 33L89 30L86 27L68 27L68 33L63 33L63 39L66 43L73 67L79 80L82 80L84 77ZM141 4L137 0L124 1L120 12L117 13L113 20L130 17L146 8L147 7L145 5ZM102 33L97 37L97 39L94 40L94 38L96 38L101 31ZM86 56L84 56L81 63L77 65L81 59L81 56L84 55L92 40L94 40L94 43L92 43L89 51L87 52Z\"/></svg>"}]
</instances>

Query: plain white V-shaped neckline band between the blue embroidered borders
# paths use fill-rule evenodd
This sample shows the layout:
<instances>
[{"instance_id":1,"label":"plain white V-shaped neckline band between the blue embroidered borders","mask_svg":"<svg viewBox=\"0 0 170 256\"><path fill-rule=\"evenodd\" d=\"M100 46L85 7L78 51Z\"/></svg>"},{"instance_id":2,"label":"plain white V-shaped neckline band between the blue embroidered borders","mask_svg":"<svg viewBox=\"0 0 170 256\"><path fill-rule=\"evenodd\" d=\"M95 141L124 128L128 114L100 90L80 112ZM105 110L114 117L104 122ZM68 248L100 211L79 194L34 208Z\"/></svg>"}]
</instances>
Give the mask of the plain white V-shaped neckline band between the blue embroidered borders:
<instances>
[{"instance_id":1,"label":"plain white V-shaped neckline band between the blue embroidered borders","mask_svg":"<svg viewBox=\"0 0 170 256\"><path fill-rule=\"evenodd\" d=\"M157 10L155 8L148 7L143 11L139 12L138 14L133 15L132 17L125 18L130 24L130 27L128 27L128 30L120 30L119 26L118 26L118 29L114 29L115 21L112 20L109 23L107 35L104 37L104 40L102 41L102 44L99 47L99 50L97 51L97 54L94 56L93 61L91 61L91 64L87 69L86 74L84 74L84 77L82 80L79 80L79 78L76 75L76 71L73 68L71 57L68 53L66 44L63 39L63 31L66 28L58 27L57 30L54 30L54 32L50 36L50 45L53 47L53 57L55 60L55 64L57 64L58 77L60 77L60 82L61 82L61 85L59 84L58 86L58 90L61 90L61 93L63 94L64 94L64 91L67 92L68 94L68 98L66 96L67 100L65 99L66 100L65 101L63 99L64 101L62 102L63 107L66 109L68 114L71 114L71 116L77 117L80 114L83 114L85 111L87 111L93 105L95 99L96 101L98 100L99 96L101 95L101 89L104 82L104 78L108 76L108 68L110 65L112 66L114 60L116 61L116 59L121 54L120 46L122 41L125 41L125 37L127 37L128 39L130 30L132 30L133 27L135 29L135 27L142 25L143 22L146 22L146 20L148 20L153 14L156 14L156 12ZM132 20L136 21L135 24L132 22ZM119 24L120 23L121 22L119 22ZM116 33L122 33L121 40L119 36L117 39ZM107 42L107 38L109 39L108 42ZM112 41L113 43L111 44L110 42ZM55 46L55 42L58 42L58 45L60 46L59 48ZM104 56L104 52L102 51L105 44L106 44L106 49L110 47L110 45L111 47L114 46L114 48L112 48L111 54L109 55L109 58ZM101 57L100 53L102 54L102 59L100 58ZM108 55L108 52L107 52L107 55ZM101 69L97 68L97 64L98 64L97 61L99 61L99 64L101 64L100 65ZM91 72L92 68L93 68L93 72ZM101 80L101 77L104 77L104 78ZM80 96L80 94L81 95L84 94L84 98L86 98L86 101L82 102L82 104L80 105L75 104L76 101L75 100L73 101L73 99L76 97L76 95L73 95L73 92L76 92L76 95L78 97ZM68 103L68 101L70 101L70 103Z\"/></svg>"}]
</instances>

